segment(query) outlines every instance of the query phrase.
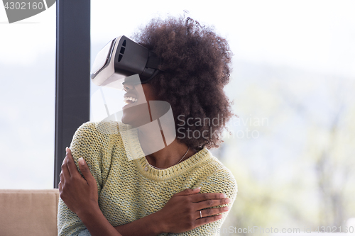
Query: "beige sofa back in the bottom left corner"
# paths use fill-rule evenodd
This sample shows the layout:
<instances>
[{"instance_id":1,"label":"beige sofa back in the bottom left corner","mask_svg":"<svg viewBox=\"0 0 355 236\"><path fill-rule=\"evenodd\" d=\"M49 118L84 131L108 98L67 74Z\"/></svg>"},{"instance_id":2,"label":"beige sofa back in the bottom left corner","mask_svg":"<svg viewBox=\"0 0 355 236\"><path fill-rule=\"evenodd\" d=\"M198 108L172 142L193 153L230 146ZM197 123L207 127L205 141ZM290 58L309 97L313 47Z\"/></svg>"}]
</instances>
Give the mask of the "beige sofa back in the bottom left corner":
<instances>
[{"instance_id":1,"label":"beige sofa back in the bottom left corner","mask_svg":"<svg viewBox=\"0 0 355 236\"><path fill-rule=\"evenodd\" d=\"M58 235L58 189L0 189L0 235Z\"/></svg>"}]
</instances>

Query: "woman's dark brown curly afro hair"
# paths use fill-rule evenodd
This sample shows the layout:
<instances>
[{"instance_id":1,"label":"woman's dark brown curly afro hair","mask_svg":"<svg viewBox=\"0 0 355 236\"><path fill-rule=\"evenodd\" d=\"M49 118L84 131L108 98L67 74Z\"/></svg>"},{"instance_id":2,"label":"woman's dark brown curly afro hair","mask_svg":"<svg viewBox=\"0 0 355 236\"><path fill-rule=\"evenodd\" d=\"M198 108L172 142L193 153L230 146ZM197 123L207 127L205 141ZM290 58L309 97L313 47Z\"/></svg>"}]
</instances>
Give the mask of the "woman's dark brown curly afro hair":
<instances>
[{"instance_id":1,"label":"woman's dark brown curly afro hair","mask_svg":"<svg viewBox=\"0 0 355 236\"><path fill-rule=\"evenodd\" d=\"M223 90L231 72L227 41L185 16L155 18L133 39L163 62L163 72L148 83L160 100L170 103L178 142L197 150L219 147L226 122L234 116Z\"/></svg>"}]
</instances>

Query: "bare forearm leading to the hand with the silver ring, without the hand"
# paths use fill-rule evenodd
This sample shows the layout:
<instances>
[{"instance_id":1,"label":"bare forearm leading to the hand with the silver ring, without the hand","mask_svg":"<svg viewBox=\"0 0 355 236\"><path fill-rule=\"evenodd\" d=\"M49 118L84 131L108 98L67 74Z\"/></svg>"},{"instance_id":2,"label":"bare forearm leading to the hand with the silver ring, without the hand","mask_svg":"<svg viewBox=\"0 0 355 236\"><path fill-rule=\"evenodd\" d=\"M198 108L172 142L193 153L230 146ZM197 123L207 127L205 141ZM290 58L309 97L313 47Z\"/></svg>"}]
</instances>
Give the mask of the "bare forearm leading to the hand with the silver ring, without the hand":
<instances>
[{"instance_id":1,"label":"bare forearm leading to the hand with the silver ring, without the hand","mask_svg":"<svg viewBox=\"0 0 355 236\"><path fill-rule=\"evenodd\" d=\"M155 236L164 231L160 221L159 212L156 212L126 225L120 225L114 228L124 236Z\"/></svg>"}]
</instances>

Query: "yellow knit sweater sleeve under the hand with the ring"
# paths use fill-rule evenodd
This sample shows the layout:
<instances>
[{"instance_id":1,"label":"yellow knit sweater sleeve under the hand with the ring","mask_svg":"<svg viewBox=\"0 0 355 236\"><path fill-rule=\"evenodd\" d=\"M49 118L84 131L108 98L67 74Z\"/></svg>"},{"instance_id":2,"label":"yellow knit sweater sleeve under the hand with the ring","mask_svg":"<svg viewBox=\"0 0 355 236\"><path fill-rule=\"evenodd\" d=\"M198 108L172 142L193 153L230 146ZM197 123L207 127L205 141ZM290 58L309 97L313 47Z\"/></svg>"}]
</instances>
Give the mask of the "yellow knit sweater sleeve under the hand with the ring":
<instances>
[{"instance_id":1,"label":"yellow knit sweater sleeve under the hand with the ring","mask_svg":"<svg viewBox=\"0 0 355 236\"><path fill-rule=\"evenodd\" d=\"M229 172L228 169L220 169L218 172L215 172L211 176L207 177L207 179L204 180L200 186L201 186L200 193L225 193L227 198L231 198L231 203L222 205L222 207L229 206L229 208L231 208L231 206L233 206L238 189L237 189L236 180L234 179L233 174L231 174L231 172ZM224 220L226 220L229 211L227 211L226 213L222 213L222 219L214 221L213 223L201 225L187 232L182 232L179 234L169 233L168 235L169 236L219 235L219 230L221 229Z\"/></svg>"}]
</instances>

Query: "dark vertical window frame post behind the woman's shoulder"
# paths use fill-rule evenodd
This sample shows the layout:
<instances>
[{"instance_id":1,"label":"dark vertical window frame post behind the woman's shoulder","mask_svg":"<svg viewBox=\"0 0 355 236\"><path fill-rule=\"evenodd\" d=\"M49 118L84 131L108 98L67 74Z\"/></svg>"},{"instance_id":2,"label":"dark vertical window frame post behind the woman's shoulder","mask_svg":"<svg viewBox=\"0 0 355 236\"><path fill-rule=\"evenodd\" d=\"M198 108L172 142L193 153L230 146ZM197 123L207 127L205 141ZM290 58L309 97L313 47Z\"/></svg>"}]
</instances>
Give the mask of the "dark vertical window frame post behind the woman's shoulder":
<instances>
[{"instance_id":1,"label":"dark vertical window frame post behind the woman's shoulder","mask_svg":"<svg viewBox=\"0 0 355 236\"><path fill-rule=\"evenodd\" d=\"M65 147L90 114L90 1L56 4L55 167L58 189Z\"/></svg>"}]
</instances>

